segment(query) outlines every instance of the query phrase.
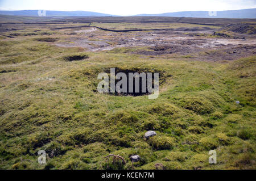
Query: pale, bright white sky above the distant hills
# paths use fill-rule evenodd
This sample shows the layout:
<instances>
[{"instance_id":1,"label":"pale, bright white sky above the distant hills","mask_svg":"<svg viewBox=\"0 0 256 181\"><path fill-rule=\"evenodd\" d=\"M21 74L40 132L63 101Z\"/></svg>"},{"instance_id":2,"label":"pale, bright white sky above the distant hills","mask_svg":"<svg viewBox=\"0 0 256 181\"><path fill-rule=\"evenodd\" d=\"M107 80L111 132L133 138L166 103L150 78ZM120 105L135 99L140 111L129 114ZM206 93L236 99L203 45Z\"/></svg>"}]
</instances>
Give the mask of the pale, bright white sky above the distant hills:
<instances>
[{"instance_id":1,"label":"pale, bright white sky above the distant hills","mask_svg":"<svg viewBox=\"0 0 256 181\"><path fill-rule=\"evenodd\" d=\"M129 16L256 8L256 0L0 0L0 10L94 11Z\"/></svg>"}]
</instances>

